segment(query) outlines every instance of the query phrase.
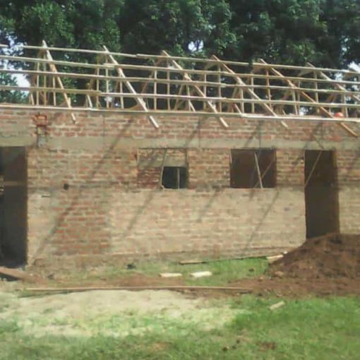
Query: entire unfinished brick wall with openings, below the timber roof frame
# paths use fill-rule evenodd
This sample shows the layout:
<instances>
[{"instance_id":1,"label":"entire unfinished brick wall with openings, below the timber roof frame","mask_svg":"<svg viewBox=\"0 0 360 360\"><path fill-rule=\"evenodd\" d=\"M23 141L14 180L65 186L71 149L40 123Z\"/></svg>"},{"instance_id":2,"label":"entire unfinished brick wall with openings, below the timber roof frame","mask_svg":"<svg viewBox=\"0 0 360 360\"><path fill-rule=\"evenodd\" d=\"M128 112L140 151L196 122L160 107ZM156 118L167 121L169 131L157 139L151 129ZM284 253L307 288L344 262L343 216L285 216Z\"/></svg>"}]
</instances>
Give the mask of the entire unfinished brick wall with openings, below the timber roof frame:
<instances>
[{"instance_id":1,"label":"entire unfinished brick wall with openings, below the timber roof frame","mask_svg":"<svg viewBox=\"0 0 360 360\"><path fill-rule=\"evenodd\" d=\"M304 150L335 149L342 232L360 232L359 145L336 124L47 113L0 114L0 145L28 150L28 262L269 254L305 239ZM4 126L3 126L4 125ZM352 126L360 133L358 126ZM165 165L188 188L161 189ZM230 150L275 148L275 188L230 188ZM358 169L359 167L359 169Z\"/></svg>"}]
</instances>

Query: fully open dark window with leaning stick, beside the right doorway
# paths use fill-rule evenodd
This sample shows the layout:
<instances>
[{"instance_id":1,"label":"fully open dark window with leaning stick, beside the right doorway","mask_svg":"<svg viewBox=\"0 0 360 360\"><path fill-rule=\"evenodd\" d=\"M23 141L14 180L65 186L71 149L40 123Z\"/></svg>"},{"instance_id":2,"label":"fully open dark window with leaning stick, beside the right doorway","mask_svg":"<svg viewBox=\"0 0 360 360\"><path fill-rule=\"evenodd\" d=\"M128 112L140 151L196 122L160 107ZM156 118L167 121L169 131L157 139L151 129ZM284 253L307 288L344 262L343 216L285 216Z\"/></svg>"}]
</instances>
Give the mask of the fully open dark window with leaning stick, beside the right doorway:
<instances>
[{"instance_id":1,"label":"fully open dark window with leaning stick, beside the right doorway","mask_svg":"<svg viewBox=\"0 0 360 360\"><path fill-rule=\"evenodd\" d=\"M230 186L232 188L275 188L275 150L232 150Z\"/></svg>"}]
</instances>

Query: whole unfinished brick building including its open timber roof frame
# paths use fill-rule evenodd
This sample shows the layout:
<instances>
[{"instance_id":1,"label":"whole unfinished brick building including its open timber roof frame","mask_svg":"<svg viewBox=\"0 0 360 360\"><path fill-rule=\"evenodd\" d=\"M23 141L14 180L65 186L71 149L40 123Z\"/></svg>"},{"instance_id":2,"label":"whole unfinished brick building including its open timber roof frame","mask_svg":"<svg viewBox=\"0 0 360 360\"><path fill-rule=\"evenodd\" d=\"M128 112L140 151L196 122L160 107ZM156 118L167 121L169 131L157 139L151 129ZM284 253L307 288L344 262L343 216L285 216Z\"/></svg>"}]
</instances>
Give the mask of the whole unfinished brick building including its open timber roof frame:
<instances>
[{"instance_id":1,"label":"whole unfinished brick building including its open timber roof frame","mask_svg":"<svg viewBox=\"0 0 360 360\"><path fill-rule=\"evenodd\" d=\"M30 80L29 104L0 104L5 260L268 255L360 232L358 73L104 49L83 76L50 53L66 49L29 48L37 70L0 69Z\"/></svg>"}]
</instances>

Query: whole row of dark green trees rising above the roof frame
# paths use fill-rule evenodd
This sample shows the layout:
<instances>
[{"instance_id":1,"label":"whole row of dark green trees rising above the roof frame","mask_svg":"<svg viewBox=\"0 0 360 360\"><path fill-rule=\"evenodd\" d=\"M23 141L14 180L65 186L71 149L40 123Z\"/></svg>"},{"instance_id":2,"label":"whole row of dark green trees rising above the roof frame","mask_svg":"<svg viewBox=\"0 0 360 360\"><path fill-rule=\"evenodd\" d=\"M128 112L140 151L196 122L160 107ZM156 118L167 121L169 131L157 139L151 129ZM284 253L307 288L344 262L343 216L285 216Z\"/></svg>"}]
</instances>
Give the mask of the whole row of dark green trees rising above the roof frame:
<instances>
[{"instance_id":1,"label":"whole row of dark green trees rising above the roof frame","mask_svg":"<svg viewBox=\"0 0 360 360\"><path fill-rule=\"evenodd\" d=\"M157 54L360 61L359 0L0 0L0 41Z\"/></svg>"}]
</instances>

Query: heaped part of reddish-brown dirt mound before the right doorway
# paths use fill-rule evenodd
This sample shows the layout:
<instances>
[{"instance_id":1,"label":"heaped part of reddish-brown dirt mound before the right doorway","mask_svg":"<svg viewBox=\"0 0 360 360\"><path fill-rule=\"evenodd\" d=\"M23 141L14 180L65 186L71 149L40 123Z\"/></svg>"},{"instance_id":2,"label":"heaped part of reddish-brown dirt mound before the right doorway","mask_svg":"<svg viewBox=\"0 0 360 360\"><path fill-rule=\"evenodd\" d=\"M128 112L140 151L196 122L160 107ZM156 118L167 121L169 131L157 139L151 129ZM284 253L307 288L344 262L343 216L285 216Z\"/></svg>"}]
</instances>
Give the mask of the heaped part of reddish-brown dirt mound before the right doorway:
<instances>
[{"instance_id":1,"label":"heaped part of reddish-brown dirt mound before the right doorway","mask_svg":"<svg viewBox=\"0 0 360 360\"><path fill-rule=\"evenodd\" d=\"M328 234L306 242L270 265L270 276L301 279L360 277L360 235Z\"/></svg>"}]
</instances>

